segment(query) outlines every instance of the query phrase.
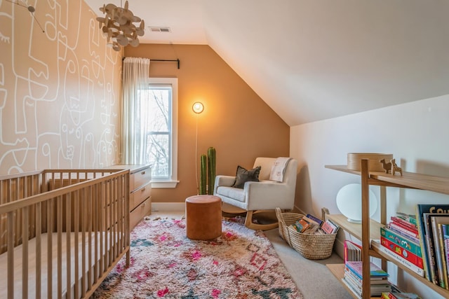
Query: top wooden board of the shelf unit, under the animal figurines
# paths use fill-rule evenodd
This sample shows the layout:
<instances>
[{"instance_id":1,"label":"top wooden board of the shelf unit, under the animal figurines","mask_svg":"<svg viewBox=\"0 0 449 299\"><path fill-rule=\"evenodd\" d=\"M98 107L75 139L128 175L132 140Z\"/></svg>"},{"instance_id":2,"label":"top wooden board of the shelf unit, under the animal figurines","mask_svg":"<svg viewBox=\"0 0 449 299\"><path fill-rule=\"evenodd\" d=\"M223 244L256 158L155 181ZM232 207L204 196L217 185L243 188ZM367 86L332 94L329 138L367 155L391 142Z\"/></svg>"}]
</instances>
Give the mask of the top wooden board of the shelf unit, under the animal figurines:
<instances>
[{"instance_id":1,"label":"top wooden board of the shelf unit, under the animal figurines","mask_svg":"<svg viewBox=\"0 0 449 299\"><path fill-rule=\"evenodd\" d=\"M325 165L325 167L340 172L361 175L359 171L348 169L347 165ZM379 185L416 188L449 195L449 178L443 176L430 176L415 172L403 172L402 176L399 174L393 176L384 172L370 172L370 179L382 182L378 183Z\"/></svg>"}]
</instances>

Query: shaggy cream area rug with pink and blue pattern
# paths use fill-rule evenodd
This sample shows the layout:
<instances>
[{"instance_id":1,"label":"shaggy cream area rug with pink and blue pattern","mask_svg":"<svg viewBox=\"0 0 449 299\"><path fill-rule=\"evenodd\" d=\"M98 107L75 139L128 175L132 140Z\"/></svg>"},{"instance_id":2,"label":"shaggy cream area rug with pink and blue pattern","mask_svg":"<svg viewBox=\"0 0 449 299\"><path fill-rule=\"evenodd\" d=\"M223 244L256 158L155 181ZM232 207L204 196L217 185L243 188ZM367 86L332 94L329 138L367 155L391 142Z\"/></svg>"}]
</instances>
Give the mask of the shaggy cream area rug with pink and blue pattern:
<instances>
[{"instance_id":1,"label":"shaggy cream area rug with pink and blue pattern","mask_svg":"<svg viewBox=\"0 0 449 299\"><path fill-rule=\"evenodd\" d=\"M185 220L142 221L130 241L130 267L123 258L94 298L302 298L264 233L235 218L211 241L188 239Z\"/></svg>"}]
</instances>

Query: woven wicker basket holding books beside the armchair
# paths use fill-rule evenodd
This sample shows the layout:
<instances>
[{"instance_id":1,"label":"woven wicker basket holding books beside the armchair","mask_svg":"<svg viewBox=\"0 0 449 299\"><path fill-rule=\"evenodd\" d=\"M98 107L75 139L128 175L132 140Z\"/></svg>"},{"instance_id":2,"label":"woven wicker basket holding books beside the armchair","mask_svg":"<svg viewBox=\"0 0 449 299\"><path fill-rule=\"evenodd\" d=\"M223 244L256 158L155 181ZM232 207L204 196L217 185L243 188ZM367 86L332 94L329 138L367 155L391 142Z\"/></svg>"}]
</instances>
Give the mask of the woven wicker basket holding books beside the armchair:
<instances>
[{"instance_id":1,"label":"woven wicker basket holding books beside the armchair","mask_svg":"<svg viewBox=\"0 0 449 299\"><path fill-rule=\"evenodd\" d=\"M303 216L297 213L281 213L281 209L276 208L276 217L279 222L279 235L286 240L288 245L301 253L304 258L322 260L330 257L337 234L308 235L297 232L290 225L300 220Z\"/></svg>"}]
</instances>

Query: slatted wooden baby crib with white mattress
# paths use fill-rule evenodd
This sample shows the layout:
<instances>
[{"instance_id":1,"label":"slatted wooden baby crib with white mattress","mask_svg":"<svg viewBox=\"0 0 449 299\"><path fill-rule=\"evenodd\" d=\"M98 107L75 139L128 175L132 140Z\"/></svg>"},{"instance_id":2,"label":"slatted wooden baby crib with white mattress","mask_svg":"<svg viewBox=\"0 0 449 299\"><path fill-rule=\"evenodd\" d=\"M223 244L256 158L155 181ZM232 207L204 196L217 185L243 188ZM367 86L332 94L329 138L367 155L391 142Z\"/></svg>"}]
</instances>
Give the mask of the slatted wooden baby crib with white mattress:
<instances>
[{"instance_id":1,"label":"slatted wooden baby crib with white mattress","mask_svg":"<svg viewBox=\"0 0 449 299\"><path fill-rule=\"evenodd\" d=\"M88 298L126 254L129 171L0 176L0 298Z\"/></svg>"}]
</instances>

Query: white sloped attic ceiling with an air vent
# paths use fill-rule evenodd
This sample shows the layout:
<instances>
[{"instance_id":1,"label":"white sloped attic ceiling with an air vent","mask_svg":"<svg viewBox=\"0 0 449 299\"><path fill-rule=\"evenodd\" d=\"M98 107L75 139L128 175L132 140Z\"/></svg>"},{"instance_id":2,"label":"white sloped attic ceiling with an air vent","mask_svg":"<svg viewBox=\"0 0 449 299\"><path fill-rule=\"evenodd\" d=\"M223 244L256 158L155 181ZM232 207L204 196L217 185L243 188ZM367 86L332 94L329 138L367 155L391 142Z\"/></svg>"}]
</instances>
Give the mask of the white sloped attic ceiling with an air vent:
<instances>
[{"instance_id":1,"label":"white sloped attic ceiling with an air vent","mask_svg":"<svg viewBox=\"0 0 449 299\"><path fill-rule=\"evenodd\" d=\"M128 2L141 43L209 45L288 125L449 94L447 0Z\"/></svg>"}]
</instances>

